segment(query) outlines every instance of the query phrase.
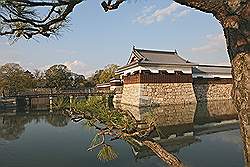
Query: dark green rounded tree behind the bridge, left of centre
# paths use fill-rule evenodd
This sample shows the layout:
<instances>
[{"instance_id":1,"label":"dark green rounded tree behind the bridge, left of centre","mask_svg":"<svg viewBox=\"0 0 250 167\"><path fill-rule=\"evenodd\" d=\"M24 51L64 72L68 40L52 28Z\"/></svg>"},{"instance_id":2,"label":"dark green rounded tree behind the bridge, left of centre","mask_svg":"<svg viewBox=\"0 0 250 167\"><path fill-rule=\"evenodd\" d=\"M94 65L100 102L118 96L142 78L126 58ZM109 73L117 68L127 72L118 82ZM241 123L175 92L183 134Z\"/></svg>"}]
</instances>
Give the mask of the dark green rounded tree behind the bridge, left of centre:
<instances>
[{"instance_id":1,"label":"dark green rounded tree behind the bridge, left of centre","mask_svg":"<svg viewBox=\"0 0 250 167\"><path fill-rule=\"evenodd\" d=\"M53 65L45 71L46 86L57 90L71 87L71 72L65 65Z\"/></svg>"}]
</instances>

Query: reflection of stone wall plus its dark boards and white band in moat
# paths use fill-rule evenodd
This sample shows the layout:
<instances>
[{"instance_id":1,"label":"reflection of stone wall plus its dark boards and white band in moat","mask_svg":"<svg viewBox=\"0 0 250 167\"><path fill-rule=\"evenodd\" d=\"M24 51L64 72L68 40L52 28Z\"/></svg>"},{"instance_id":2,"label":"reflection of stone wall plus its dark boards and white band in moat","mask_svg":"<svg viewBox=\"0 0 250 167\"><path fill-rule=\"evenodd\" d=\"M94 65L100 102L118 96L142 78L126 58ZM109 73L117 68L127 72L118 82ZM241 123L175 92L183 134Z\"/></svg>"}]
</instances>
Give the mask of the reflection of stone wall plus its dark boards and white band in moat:
<instances>
[{"instance_id":1,"label":"reflection of stone wall plus its dark boards and white band in moat","mask_svg":"<svg viewBox=\"0 0 250 167\"><path fill-rule=\"evenodd\" d=\"M232 101L211 101L206 103L189 105L169 105L161 107L135 107L122 105L122 108L130 111L136 119L143 119L147 112L152 112L156 116L158 134L152 136L168 139L169 137L178 137L190 135L192 133L203 133L223 131L224 124L235 126L237 112L234 109ZM227 122L228 120L232 120ZM208 127L206 124L210 123ZM212 123L212 125L211 125ZM203 125L205 126L197 126ZM211 127L210 127L211 126ZM205 132L205 133L206 133Z\"/></svg>"}]
</instances>

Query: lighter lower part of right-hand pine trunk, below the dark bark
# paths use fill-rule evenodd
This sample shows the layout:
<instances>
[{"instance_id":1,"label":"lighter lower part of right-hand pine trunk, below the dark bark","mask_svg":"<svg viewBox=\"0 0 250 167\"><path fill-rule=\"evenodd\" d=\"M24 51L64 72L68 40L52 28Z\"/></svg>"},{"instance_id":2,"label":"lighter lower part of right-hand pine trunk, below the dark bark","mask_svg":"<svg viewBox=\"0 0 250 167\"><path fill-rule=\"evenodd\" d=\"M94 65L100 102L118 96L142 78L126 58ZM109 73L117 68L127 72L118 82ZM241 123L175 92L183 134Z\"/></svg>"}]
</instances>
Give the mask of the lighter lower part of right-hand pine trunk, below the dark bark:
<instances>
[{"instance_id":1,"label":"lighter lower part of right-hand pine trunk, below the dark bark","mask_svg":"<svg viewBox=\"0 0 250 167\"><path fill-rule=\"evenodd\" d=\"M240 53L232 60L232 97L238 111L246 166L250 166L250 55Z\"/></svg>"}]
</instances>

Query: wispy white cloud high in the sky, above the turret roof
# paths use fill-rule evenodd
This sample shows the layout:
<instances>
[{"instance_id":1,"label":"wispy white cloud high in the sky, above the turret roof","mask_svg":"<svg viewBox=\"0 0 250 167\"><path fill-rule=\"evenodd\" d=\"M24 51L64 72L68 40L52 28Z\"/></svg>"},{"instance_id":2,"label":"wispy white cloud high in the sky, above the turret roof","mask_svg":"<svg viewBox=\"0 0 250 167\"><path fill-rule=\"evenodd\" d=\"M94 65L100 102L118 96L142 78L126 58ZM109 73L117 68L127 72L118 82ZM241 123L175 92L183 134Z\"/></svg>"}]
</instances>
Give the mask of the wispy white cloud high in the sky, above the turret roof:
<instances>
[{"instance_id":1,"label":"wispy white cloud high in the sky, above the turret roof","mask_svg":"<svg viewBox=\"0 0 250 167\"><path fill-rule=\"evenodd\" d=\"M149 25L155 22L160 22L167 16L173 15L174 18L183 17L190 12L189 9L186 9L186 7L183 7L175 2L162 9L154 10L154 8L154 6L146 7L142 14L138 16L134 22Z\"/></svg>"}]
</instances>

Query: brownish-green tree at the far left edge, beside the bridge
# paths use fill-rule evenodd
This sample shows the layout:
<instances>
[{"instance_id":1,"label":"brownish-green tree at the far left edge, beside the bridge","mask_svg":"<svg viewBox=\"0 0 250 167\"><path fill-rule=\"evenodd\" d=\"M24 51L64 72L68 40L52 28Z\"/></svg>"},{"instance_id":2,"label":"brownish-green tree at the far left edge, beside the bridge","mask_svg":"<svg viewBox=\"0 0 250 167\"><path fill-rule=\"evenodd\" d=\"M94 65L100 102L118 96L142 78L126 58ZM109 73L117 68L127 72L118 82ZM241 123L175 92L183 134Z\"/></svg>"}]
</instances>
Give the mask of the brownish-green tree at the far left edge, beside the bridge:
<instances>
[{"instance_id":1,"label":"brownish-green tree at the far left edge, beside the bridge","mask_svg":"<svg viewBox=\"0 0 250 167\"><path fill-rule=\"evenodd\" d=\"M7 63L0 67L0 90L14 95L25 89L32 88L32 75L24 72L19 64Z\"/></svg>"}]
</instances>

